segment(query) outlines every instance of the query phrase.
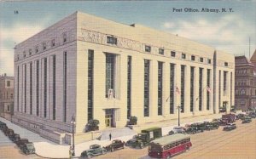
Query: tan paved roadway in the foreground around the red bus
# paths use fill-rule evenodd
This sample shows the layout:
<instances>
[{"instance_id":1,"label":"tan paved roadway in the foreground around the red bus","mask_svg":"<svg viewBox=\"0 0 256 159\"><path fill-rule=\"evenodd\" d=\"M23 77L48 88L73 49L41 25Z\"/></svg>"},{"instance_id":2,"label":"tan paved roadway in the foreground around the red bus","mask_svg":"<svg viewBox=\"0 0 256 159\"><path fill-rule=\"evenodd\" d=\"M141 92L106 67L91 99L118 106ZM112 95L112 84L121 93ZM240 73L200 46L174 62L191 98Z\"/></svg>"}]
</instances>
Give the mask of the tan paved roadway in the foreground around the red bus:
<instances>
[{"instance_id":1,"label":"tan paved roadway in the foreground around the red bus","mask_svg":"<svg viewBox=\"0 0 256 159\"><path fill-rule=\"evenodd\" d=\"M235 130L225 132L223 127L218 130L205 131L191 135L192 147L173 158L203 158L203 159L255 159L256 158L256 119L253 122L241 124L236 121ZM116 150L96 158L108 159L148 159L148 149L135 150L125 147L124 150Z\"/></svg>"}]
</instances>

